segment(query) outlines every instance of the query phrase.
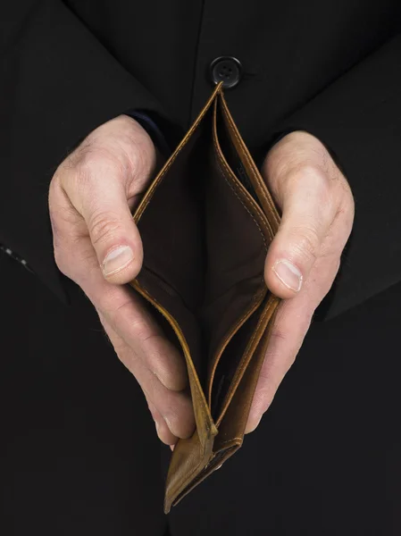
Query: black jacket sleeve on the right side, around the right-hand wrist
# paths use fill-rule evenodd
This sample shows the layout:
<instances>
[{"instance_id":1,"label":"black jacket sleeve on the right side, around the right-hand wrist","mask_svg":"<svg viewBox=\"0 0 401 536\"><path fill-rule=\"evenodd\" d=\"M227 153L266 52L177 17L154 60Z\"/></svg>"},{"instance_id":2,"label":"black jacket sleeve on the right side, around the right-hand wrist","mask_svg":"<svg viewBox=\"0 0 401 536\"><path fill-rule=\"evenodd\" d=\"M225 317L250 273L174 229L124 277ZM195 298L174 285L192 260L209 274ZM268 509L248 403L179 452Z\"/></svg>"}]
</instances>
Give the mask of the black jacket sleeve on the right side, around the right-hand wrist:
<instances>
[{"instance_id":1,"label":"black jacket sleeve on the right side, around the right-hand wrist","mask_svg":"<svg viewBox=\"0 0 401 536\"><path fill-rule=\"evenodd\" d=\"M305 130L334 155L355 197L355 224L318 318L401 280L401 35L282 121L272 139Z\"/></svg>"}]
</instances>

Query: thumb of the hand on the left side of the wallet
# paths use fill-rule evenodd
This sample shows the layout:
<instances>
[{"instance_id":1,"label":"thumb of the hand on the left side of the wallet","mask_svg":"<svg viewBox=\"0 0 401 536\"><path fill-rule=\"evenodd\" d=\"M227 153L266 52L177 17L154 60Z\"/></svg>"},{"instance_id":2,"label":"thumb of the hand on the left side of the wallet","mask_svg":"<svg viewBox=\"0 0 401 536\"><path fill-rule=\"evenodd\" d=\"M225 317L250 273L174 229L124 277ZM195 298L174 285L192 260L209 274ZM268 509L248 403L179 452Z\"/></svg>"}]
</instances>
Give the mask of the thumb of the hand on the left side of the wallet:
<instances>
[{"instance_id":1,"label":"thumb of the hand on the left side of the wallet","mask_svg":"<svg viewBox=\"0 0 401 536\"><path fill-rule=\"evenodd\" d=\"M97 263L113 283L134 279L143 260L142 243L127 201L125 171L107 158L96 158L68 174L63 187L83 217Z\"/></svg>"}]
</instances>

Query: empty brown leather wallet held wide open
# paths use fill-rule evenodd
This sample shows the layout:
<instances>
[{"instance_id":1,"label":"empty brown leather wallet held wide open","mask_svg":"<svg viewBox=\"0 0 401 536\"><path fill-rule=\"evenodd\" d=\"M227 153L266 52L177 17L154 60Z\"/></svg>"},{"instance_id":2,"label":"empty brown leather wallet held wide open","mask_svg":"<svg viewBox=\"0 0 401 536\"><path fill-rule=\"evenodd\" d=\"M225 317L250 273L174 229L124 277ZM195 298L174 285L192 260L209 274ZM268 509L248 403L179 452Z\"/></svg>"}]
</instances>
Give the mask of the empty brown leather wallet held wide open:
<instances>
[{"instance_id":1,"label":"empty brown leather wallet held wide open","mask_svg":"<svg viewBox=\"0 0 401 536\"><path fill-rule=\"evenodd\" d=\"M134 214L144 263L129 284L180 348L196 431L175 446L167 514L241 447L280 299L266 253L280 214L230 114L222 83Z\"/></svg>"}]
</instances>

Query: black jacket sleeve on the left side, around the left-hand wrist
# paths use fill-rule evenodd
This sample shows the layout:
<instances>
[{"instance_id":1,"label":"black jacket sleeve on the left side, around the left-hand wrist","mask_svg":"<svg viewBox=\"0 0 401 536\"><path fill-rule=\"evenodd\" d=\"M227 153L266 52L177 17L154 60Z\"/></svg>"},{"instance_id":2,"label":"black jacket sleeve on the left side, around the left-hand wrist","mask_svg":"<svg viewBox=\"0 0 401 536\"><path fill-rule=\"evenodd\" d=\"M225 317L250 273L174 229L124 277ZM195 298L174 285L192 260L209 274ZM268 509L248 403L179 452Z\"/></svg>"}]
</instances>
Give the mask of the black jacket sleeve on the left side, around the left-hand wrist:
<instances>
[{"instance_id":1,"label":"black jacket sleeve on the left side, around the left-hand wrist","mask_svg":"<svg viewBox=\"0 0 401 536\"><path fill-rule=\"evenodd\" d=\"M61 1L6 3L0 35L0 243L65 299L47 209L56 167L105 121L163 110Z\"/></svg>"}]
</instances>

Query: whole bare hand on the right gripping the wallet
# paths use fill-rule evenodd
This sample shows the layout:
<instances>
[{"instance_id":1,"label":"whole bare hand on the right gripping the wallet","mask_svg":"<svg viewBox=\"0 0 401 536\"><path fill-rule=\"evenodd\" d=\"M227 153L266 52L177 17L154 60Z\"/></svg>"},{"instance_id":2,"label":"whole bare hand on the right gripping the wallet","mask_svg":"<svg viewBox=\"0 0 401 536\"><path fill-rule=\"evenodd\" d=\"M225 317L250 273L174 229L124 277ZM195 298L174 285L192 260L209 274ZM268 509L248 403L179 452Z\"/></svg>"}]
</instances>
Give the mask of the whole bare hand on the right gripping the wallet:
<instances>
[{"instance_id":1,"label":"whole bare hand on the right gripping the wallet","mask_svg":"<svg viewBox=\"0 0 401 536\"><path fill-rule=\"evenodd\" d=\"M282 211L266 257L264 279L281 302L264 358L246 433L272 404L329 292L354 221L354 199L329 152L312 135L282 138L263 163L263 176Z\"/></svg>"}]
</instances>

